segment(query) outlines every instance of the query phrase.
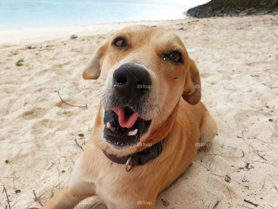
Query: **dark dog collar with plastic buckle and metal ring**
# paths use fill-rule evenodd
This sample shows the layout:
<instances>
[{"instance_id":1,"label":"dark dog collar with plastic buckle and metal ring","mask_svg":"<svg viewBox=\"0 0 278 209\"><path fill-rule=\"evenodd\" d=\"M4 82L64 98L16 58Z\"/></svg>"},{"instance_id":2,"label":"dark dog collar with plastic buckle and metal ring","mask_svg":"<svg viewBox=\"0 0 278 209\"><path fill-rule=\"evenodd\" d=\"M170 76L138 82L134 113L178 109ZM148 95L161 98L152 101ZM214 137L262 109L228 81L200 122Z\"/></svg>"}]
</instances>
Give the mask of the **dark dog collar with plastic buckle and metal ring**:
<instances>
[{"instance_id":1,"label":"dark dog collar with plastic buckle and metal ring","mask_svg":"<svg viewBox=\"0 0 278 209\"><path fill-rule=\"evenodd\" d=\"M151 147L144 149L141 152L136 152L126 157L118 157L116 155L108 154L105 151L103 151L103 153L109 160L115 163L128 164L128 165L144 165L147 161L157 157L162 152L163 141L164 139L152 145Z\"/></svg>"}]
</instances>

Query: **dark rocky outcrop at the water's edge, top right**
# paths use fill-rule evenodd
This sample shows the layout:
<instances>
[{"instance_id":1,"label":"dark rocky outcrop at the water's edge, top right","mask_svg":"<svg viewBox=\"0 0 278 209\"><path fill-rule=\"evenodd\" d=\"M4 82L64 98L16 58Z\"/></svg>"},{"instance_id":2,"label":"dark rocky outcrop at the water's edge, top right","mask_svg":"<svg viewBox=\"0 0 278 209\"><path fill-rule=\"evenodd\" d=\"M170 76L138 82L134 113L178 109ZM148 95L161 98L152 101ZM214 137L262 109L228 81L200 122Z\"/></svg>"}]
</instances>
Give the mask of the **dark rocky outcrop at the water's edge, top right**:
<instances>
[{"instance_id":1,"label":"dark rocky outcrop at the water's edge, top right","mask_svg":"<svg viewBox=\"0 0 278 209\"><path fill-rule=\"evenodd\" d=\"M278 14L278 0L211 0L185 13L197 18Z\"/></svg>"}]
</instances>

